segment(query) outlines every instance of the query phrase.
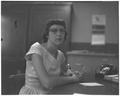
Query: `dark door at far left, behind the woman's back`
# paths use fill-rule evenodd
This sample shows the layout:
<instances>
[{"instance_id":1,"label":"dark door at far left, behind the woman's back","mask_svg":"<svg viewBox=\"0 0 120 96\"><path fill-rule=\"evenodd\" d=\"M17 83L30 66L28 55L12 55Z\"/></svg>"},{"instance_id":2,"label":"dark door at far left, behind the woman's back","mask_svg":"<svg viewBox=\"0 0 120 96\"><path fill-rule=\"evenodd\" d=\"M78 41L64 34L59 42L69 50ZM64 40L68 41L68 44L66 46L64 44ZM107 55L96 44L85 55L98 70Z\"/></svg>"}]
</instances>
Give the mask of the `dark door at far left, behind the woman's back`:
<instances>
[{"instance_id":1,"label":"dark door at far left, behind the woman's back","mask_svg":"<svg viewBox=\"0 0 120 96\"><path fill-rule=\"evenodd\" d=\"M21 4L2 3L1 49L2 93L7 94L12 85L9 76L18 70L24 72L27 32L27 7Z\"/></svg>"}]
</instances>

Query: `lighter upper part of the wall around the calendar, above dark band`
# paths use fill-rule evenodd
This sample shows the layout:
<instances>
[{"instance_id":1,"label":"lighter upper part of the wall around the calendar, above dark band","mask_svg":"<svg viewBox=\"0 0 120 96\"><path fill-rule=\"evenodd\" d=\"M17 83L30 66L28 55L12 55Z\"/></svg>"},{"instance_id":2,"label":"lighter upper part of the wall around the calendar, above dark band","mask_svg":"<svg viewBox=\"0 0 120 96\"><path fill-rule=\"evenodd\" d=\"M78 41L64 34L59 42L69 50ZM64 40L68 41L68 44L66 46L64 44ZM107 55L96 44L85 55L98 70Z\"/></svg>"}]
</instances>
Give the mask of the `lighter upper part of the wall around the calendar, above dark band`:
<instances>
[{"instance_id":1,"label":"lighter upper part of the wall around the calendar, above dark band","mask_svg":"<svg viewBox=\"0 0 120 96\"><path fill-rule=\"evenodd\" d=\"M72 42L90 42L92 15L106 15L106 42L118 43L118 2L74 2Z\"/></svg>"}]
</instances>

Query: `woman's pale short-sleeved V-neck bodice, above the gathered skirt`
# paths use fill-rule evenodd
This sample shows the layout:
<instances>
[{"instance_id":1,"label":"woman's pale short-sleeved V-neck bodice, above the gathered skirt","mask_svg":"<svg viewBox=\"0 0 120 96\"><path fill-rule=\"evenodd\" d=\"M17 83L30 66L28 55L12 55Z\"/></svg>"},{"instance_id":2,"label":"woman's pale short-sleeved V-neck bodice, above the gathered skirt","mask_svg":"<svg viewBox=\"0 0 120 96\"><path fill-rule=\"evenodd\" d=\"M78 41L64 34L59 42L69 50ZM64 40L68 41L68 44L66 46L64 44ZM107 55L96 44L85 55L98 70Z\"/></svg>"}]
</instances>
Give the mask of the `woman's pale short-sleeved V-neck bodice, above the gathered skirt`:
<instances>
[{"instance_id":1,"label":"woman's pale short-sleeved V-neck bodice, above the gathered skirt","mask_svg":"<svg viewBox=\"0 0 120 96\"><path fill-rule=\"evenodd\" d=\"M43 64L45 66L46 71L50 75L60 75L61 73L61 64L65 62L65 57L63 52L58 50L57 58L54 58L40 43L34 43L29 51L25 55L26 59L26 77L25 77L25 86L36 87L41 92L45 91L43 88L36 70L32 64L32 54L38 54L43 57ZM25 88L24 88L25 89Z\"/></svg>"}]
</instances>

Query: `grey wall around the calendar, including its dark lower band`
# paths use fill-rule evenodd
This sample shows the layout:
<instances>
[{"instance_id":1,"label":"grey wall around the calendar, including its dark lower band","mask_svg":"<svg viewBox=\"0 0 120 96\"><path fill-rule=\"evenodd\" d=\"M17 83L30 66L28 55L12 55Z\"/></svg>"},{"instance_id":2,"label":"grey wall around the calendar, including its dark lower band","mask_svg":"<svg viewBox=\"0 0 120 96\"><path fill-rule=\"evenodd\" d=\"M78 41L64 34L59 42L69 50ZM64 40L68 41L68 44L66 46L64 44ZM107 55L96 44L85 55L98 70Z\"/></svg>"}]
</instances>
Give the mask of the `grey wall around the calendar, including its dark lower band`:
<instances>
[{"instance_id":1,"label":"grey wall around the calendar, including its dark lower band","mask_svg":"<svg viewBox=\"0 0 120 96\"><path fill-rule=\"evenodd\" d=\"M103 46L91 46L92 15L106 16ZM71 50L92 50L118 53L119 47L118 2L73 2Z\"/></svg>"}]
</instances>

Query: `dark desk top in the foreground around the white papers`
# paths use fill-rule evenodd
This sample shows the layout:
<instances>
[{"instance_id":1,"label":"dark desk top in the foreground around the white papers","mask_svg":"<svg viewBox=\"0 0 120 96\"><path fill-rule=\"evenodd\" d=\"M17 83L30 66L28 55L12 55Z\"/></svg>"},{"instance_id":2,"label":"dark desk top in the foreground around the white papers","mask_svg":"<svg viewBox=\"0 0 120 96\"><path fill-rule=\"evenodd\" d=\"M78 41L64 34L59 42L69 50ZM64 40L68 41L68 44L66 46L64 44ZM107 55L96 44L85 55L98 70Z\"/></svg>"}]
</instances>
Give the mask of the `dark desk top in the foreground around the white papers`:
<instances>
[{"instance_id":1,"label":"dark desk top in the foreground around the white papers","mask_svg":"<svg viewBox=\"0 0 120 96\"><path fill-rule=\"evenodd\" d=\"M83 86L79 83L67 84L57 87L50 91L49 94L85 94L85 95L118 95L119 83L109 81L96 81L104 86Z\"/></svg>"}]
</instances>

